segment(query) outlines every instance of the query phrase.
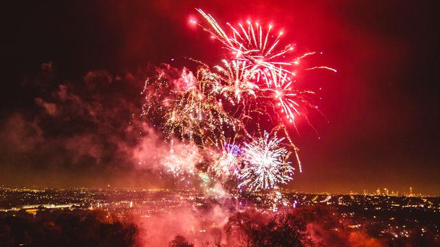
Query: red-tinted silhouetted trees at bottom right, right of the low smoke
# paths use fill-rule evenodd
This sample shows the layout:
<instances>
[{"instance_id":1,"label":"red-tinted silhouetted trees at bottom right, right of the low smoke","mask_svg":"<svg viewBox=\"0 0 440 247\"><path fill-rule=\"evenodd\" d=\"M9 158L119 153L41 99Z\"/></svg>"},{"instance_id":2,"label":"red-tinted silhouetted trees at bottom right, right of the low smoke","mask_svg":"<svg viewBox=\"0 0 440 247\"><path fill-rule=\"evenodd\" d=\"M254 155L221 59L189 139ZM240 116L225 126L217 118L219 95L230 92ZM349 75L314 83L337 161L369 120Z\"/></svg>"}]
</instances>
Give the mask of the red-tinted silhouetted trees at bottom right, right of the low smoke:
<instances>
[{"instance_id":1,"label":"red-tinted silhouetted trees at bottom right, right of the low smoke","mask_svg":"<svg viewBox=\"0 0 440 247\"><path fill-rule=\"evenodd\" d=\"M428 233L426 229L424 231L423 233L420 228L408 228L408 237L395 237L391 233L373 235L369 227L354 224L350 218L341 217L336 209L317 205L285 209L274 214L256 210L235 212L223 226L225 239L202 246L440 246L438 234ZM170 246L187 247L191 243L184 237L177 236L170 242Z\"/></svg>"}]
</instances>

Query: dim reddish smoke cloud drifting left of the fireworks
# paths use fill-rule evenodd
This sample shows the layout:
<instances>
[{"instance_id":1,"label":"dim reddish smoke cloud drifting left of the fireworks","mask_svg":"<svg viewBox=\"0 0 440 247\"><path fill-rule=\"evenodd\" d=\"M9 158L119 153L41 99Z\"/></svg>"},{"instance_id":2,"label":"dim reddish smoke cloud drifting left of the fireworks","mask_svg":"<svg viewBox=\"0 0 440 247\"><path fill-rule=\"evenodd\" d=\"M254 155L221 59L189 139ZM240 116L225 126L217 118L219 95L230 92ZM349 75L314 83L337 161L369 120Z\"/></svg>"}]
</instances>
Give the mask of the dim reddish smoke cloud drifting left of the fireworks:
<instances>
[{"instance_id":1,"label":"dim reddish smoke cloud drifting left of the fireworks","mask_svg":"<svg viewBox=\"0 0 440 247\"><path fill-rule=\"evenodd\" d=\"M38 75L23 80L33 89L33 104L0 122L1 179L17 185L172 186L161 176L169 145L141 117L146 71L159 72L147 68L118 77L98 70L65 80L56 77L52 62L42 64ZM175 155L188 151L173 143Z\"/></svg>"}]
</instances>

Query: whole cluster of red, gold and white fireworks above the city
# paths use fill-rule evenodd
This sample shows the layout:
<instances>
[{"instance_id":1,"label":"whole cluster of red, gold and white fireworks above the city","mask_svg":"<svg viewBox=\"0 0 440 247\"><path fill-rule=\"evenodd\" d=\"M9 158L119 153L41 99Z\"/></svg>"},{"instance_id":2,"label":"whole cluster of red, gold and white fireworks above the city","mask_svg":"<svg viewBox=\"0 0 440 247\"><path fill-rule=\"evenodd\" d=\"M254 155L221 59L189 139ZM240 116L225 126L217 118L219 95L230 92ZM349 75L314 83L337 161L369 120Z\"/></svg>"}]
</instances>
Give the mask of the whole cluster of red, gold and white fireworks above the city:
<instances>
[{"instance_id":1,"label":"whole cluster of red, gold and white fireworks above the city","mask_svg":"<svg viewBox=\"0 0 440 247\"><path fill-rule=\"evenodd\" d=\"M161 71L156 80L146 81L144 115L159 124L170 141L164 166L181 180L198 181L210 193L213 186L270 190L267 197L276 210L276 204L285 204L279 186L294 176L292 152L302 171L298 148L289 136L292 125L287 123L296 128L297 116L307 119L305 108L316 109L309 101L314 91L296 88L293 68L316 52L292 56L294 46L283 45L283 31L272 25L227 23L227 34L210 14L197 11L210 28L197 25L228 54L213 67L191 59L199 64L195 75L184 68L173 76ZM325 66L305 70L314 69L336 72ZM283 138L278 139L280 131ZM182 140L183 149L173 148L175 137Z\"/></svg>"}]
</instances>

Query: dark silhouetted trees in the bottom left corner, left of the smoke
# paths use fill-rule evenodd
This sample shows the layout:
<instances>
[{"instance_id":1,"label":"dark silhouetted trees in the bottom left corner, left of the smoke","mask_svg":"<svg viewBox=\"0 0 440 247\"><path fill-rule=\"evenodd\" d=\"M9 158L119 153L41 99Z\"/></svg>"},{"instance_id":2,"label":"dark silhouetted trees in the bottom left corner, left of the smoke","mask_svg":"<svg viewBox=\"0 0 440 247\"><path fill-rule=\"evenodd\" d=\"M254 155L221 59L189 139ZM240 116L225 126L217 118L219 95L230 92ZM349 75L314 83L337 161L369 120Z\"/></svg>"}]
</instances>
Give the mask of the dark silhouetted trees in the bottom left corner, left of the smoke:
<instances>
[{"instance_id":1,"label":"dark silhouetted trees in the bottom left corner, left of the smoke","mask_svg":"<svg viewBox=\"0 0 440 247\"><path fill-rule=\"evenodd\" d=\"M17 212L0 218L0 246L135 246L138 229L105 211Z\"/></svg>"}]
</instances>

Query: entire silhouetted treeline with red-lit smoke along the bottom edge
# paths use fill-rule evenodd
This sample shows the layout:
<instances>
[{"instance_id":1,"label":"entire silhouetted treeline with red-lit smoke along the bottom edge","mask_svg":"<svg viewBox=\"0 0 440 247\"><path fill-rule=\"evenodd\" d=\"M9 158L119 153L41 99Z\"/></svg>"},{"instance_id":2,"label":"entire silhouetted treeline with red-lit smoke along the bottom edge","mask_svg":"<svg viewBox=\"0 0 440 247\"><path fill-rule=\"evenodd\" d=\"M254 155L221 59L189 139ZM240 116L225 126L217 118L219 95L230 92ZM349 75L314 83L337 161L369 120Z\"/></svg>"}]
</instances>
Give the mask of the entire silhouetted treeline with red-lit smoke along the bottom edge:
<instances>
[{"instance_id":1,"label":"entire silhouetted treeline with red-lit smoke along the bottom edge","mask_svg":"<svg viewBox=\"0 0 440 247\"><path fill-rule=\"evenodd\" d=\"M184 214L183 214L184 215ZM197 222L188 222L179 216L181 233L163 237L155 242L145 241L161 231L164 218L148 219L152 226L127 219L107 211L49 210L41 209L36 215L17 212L0 212L0 246L163 246L171 247L386 247L386 246L440 246L438 231L430 228L406 227L407 236L388 232L390 226L365 220L360 224L353 217L342 217L336 209L326 206L281 209L277 213L256 210L229 211L210 215L201 213L201 222L207 217L224 216L221 224L204 224L206 235L191 235ZM194 217L195 215L188 215ZM176 217L171 214L170 217ZM162 224L162 226L161 226ZM142 226L142 231L140 227ZM384 229L373 231L373 228ZM387 230L388 229L388 230ZM399 228L400 229L400 228ZM400 230L399 230L400 231ZM170 236L177 234L170 232ZM197 231L198 233L198 231ZM144 239L142 239L144 237ZM188 237L188 239L186 239ZM199 239L196 243L196 239ZM208 240L209 242L203 242ZM191 242L195 242L192 244Z\"/></svg>"}]
</instances>

